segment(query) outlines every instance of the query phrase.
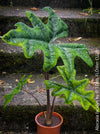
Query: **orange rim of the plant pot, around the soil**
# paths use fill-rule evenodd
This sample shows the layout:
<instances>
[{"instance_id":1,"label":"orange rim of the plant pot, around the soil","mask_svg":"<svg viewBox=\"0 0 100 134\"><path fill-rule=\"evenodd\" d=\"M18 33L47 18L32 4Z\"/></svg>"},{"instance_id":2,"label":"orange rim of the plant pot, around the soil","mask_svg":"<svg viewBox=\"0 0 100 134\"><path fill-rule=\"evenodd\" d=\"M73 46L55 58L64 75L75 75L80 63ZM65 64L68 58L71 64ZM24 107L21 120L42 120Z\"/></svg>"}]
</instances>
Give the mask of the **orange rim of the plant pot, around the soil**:
<instances>
[{"instance_id":1,"label":"orange rim of the plant pot, around the soil","mask_svg":"<svg viewBox=\"0 0 100 134\"><path fill-rule=\"evenodd\" d=\"M46 112L46 111L44 111L44 112ZM37 121L37 119L38 119L41 115L43 115L43 112L40 112L40 113L38 113L38 114L35 116L35 122L36 122L36 124L39 125L39 126L41 126L41 127L44 127L44 128L57 128L57 127L61 126L62 123L63 123L63 117L62 117L59 113L53 112L53 115L60 117L61 122L60 122L58 125L53 126L53 127L51 127L51 126L48 127L48 126L41 125L41 124Z\"/></svg>"}]
</instances>

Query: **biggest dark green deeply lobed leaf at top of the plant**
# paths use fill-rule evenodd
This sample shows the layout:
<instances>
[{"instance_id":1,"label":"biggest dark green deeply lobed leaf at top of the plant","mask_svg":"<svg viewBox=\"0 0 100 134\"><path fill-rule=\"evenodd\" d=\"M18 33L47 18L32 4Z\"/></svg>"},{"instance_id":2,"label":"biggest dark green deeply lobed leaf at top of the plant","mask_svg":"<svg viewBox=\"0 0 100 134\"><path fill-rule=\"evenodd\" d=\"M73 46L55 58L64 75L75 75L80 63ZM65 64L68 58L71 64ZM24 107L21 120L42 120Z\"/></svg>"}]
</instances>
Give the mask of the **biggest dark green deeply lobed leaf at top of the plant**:
<instances>
[{"instance_id":1,"label":"biggest dark green deeply lobed leaf at top of the plant","mask_svg":"<svg viewBox=\"0 0 100 134\"><path fill-rule=\"evenodd\" d=\"M27 11L26 15L33 28L18 22L15 24L17 28L3 35L2 39L10 45L22 47L26 58L31 58L36 50L42 50L44 53L43 70L45 72L57 64L58 57L62 58L63 63L68 68L68 72L73 71L76 56L79 56L88 65L92 66L93 63L84 45L51 43L59 37L67 36L68 27L50 7L45 7L43 10L49 13L47 24L44 24L32 12Z\"/></svg>"}]
</instances>

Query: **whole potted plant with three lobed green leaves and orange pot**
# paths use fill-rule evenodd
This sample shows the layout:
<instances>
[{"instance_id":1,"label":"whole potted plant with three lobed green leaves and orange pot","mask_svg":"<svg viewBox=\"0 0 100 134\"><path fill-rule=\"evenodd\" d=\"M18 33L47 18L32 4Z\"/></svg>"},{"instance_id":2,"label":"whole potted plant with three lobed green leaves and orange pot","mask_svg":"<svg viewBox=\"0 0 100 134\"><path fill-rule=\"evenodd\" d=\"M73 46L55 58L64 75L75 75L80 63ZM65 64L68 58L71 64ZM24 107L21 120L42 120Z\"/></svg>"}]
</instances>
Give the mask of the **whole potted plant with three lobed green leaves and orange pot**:
<instances>
[{"instance_id":1,"label":"whole potted plant with three lobed green leaves and orange pot","mask_svg":"<svg viewBox=\"0 0 100 134\"><path fill-rule=\"evenodd\" d=\"M3 35L2 39L7 44L22 47L26 58L31 58L36 50L41 50L43 70L45 73L44 83L46 84L47 92L47 110L42 111L35 118L38 128L37 131L38 134L59 134L63 118L54 112L56 96L64 98L65 103L68 105L73 104L74 100L78 100L85 110L88 110L92 106L95 110L99 111L99 106L94 100L94 92L85 90L89 80L75 79L76 70L74 69L74 59L76 56L80 57L89 66L93 65L88 54L88 49L85 45L77 43L53 44L52 42L57 38L68 35L68 27L64 21L57 17L52 8L45 7L43 10L49 13L47 24L44 24L32 12L26 11L26 15L33 27L31 28L22 22L18 22L15 24L17 28ZM57 66L57 69L65 80L66 85L49 81L49 71L56 66L59 57L62 59L63 65ZM31 75L25 79L24 75L19 81L18 86L13 89L13 92L4 96L4 107L12 100L15 94L23 90L23 85L27 83L30 77ZM52 96L54 97L52 105L50 103L49 91L51 88L53 89ZM33 97L39 103L38 99L35 96ZM56 126L52 126L53 119L54 121L57 120ZM40 123L41 120L43 120L42 124Z\"/></svg>"}]
</instances>

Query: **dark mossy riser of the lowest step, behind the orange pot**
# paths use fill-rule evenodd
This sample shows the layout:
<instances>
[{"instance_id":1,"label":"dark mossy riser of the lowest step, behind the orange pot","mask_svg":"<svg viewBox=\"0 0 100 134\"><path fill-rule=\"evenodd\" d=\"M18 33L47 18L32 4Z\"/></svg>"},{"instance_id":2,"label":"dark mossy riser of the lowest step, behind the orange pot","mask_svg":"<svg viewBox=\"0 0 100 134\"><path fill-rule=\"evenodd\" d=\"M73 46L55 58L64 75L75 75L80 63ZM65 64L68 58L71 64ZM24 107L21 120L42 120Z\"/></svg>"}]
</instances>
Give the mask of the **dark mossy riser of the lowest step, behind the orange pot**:
<instances>
[{"instance_id":1,"label":"dark mossy riser of the lowest step, behind the orange pot","mask_svg":"<svg viewBox=\"0 0 100 134\"><path fill-rule=\"evenodd\" d=\"M46 110L46 107L43 107ZM95 111L89 109L84 111L81 107L56 106L55 111L64 118L62 131L70 130L95 130ZM29 128L30 131L36 130L34 118L40 112L38 106L10 106L6 109L0 107L0 130L21 130Z\"/></svg>"}]
</instances>

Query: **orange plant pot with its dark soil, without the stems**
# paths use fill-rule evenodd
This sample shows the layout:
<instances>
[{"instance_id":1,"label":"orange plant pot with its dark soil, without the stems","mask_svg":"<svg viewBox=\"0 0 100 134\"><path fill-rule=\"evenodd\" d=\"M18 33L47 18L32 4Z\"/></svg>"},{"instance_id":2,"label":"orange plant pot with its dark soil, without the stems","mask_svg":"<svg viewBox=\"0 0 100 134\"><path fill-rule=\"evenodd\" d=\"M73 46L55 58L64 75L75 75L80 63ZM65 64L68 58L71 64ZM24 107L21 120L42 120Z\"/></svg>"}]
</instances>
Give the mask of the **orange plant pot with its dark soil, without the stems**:
<instances>
[{"instance_id":1,"label":"orange plant pot with its dark soil, without the stems","mask_svg":"<svg viewBox=\"0 0 100 134\"><path fill-rule=\"evenodd\" d=\"M35 121L37 123L37 134L60 134L63 118L59 113L53 112L52 126L46 126L44 120L43 112L36 115Z\"/></svg>"}]
</instances>

